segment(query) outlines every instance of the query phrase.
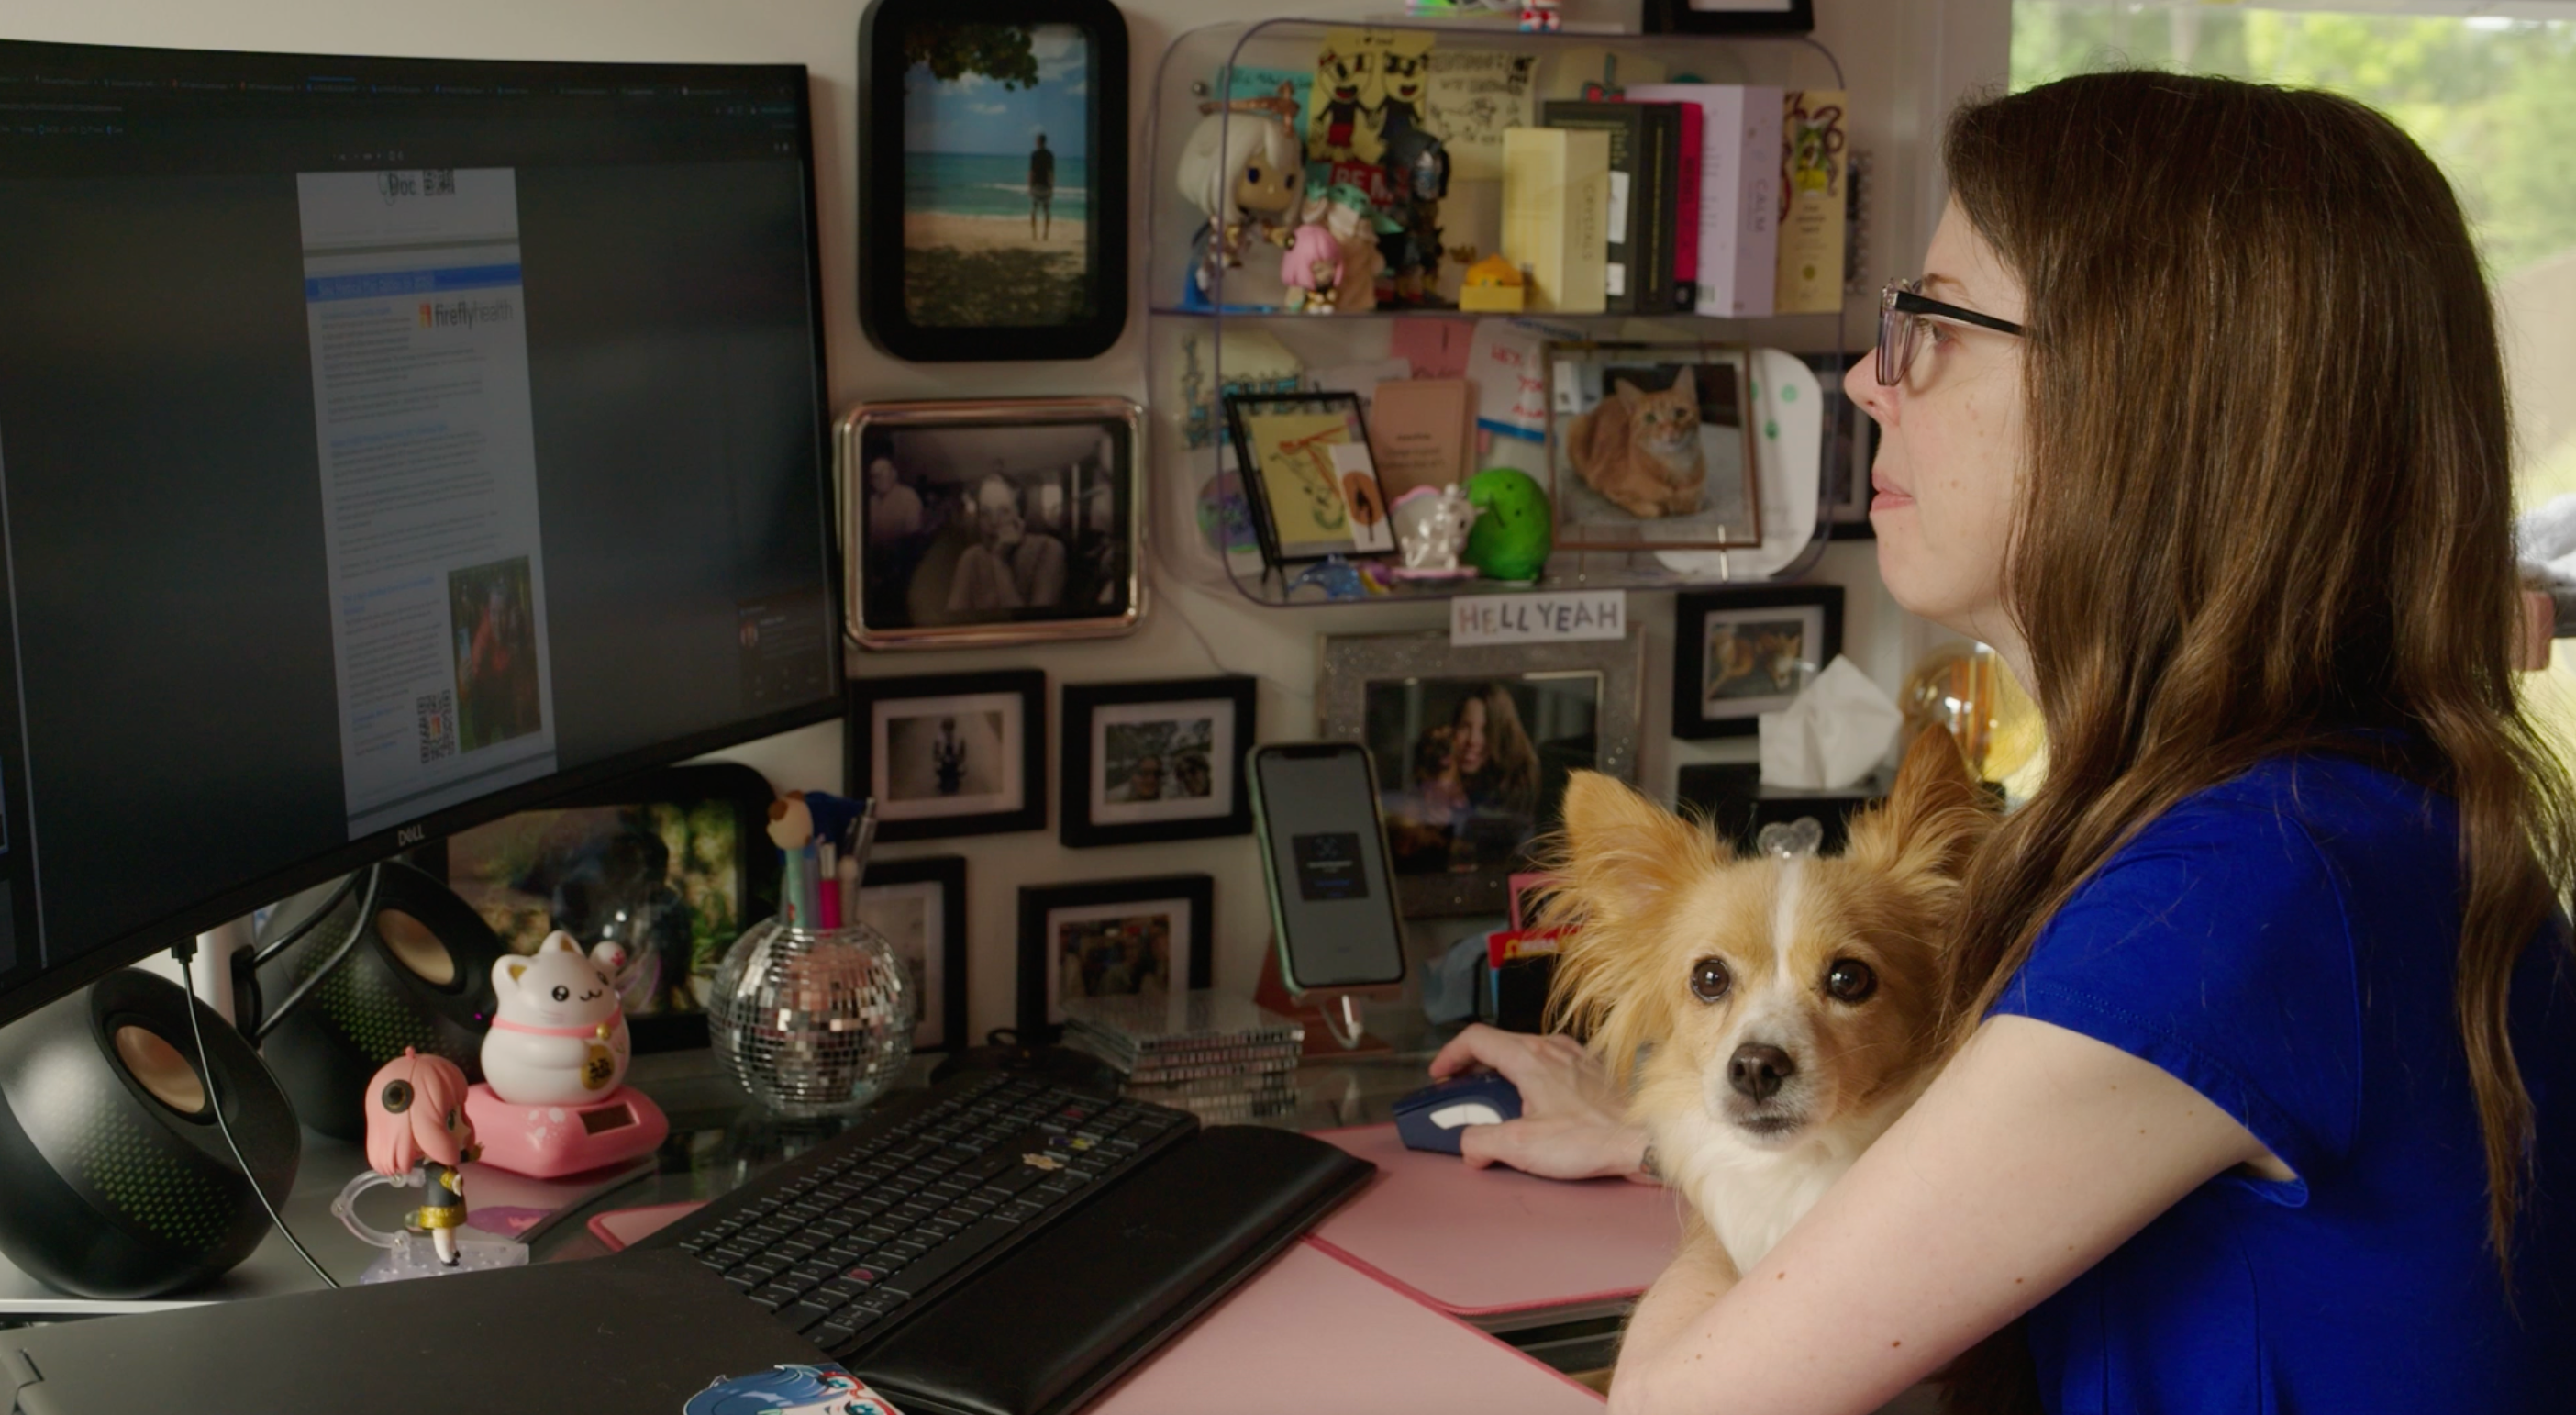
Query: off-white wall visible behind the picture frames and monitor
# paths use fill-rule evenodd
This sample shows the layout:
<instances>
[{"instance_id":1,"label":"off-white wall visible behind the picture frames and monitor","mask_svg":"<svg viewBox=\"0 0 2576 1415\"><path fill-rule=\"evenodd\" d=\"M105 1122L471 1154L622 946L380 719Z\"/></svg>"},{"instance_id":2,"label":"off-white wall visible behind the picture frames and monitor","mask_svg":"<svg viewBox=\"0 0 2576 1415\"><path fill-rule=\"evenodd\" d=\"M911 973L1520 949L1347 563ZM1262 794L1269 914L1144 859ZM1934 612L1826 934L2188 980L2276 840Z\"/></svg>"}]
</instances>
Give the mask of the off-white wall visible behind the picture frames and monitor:
<instances>
[{"instance_id":1,"label":"off-white wall visible behind the picture frames and monitor","mask_svg":"<svg viewBox=\"0 0 2576 1415\"><path fill-rule=\"evenodd\" d=\"M1221 18L1267 13L1386 13L1396 0L1319 0L1311 8L1260 0L1126 0L1133 93L1151 93L1154 64L1175 34ZM1870 284L1911 271L1937 204L1929 142L1950 95L2004 75L2007 0L1819 0L1819 39L1855 93L1855 144L1878 160L1886 201L1865 271ZM853 82L860 0L8 0L0 36L85 44L291 49L314 54L422 54L466 59L796 62L814 72L822 198L824 312L835 405L884 397L1126 394L1146 399L1144 320L1108 356L1087 363L907 366L858 330L853 289ZM1633 18L1633 0L1569 0L1571 18ZM1141 129L1144 111L1136 111ZM1162 178L1136 155L1139 201ZM1144 222L1136 222L1144 229ZM1850 338L1868 338L1855 307ZM1847 652L1893 691L1904 665L1932 642L1878 588L1870 541L1832 546L1814 580L1847 585ZM1669 595L1636 595L1646 624L1641 781L1669 791L1685 760L1747 760L1749 740L1674 742L1669 727ZM1262 611L1236 598L1157 582L1154 608L1131 639L1072 647L935 655L853 655L860 675L1043 668L1056 683L1175 678L1211 670L1262 678L1262 735L1314 735L1314 637L1432 629L1437 606ZM778 789L840 789L840 727L811 727L724 753ZM1267 943L1260 863L1249 838L1180 845L1064 851L1054 833L889 848L969 858L974 1031L1007 1026L1015 987L1015 889L1036 881L1113 879L1149 871L1208 871L1218 879L1216 982L1249 990ZM1440 930L1435 930L1440 933Z\"/></svg>"}]
</instances>

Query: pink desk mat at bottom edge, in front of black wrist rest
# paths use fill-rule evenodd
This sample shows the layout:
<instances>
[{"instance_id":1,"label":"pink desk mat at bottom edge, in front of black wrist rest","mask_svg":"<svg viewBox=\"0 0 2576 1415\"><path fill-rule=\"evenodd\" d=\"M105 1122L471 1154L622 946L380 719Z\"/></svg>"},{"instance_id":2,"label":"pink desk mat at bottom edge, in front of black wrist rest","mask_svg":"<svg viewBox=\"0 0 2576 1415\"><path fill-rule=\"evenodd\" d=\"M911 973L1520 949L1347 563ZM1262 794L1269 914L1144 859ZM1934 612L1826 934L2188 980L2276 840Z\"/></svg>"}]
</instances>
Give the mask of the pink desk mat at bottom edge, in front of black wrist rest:
<instances>
[{"instance_id":1,"label":"pink desk mat at bottom edge, in front of black wrist rest","mask_svg":"<svg viewBox=\"0 0 2576 1415\"><path fill-rule=\"evenodd\" d=\"M1084 1415L1600 1415L1602 1397L1296 1242Z\"/></svg>"}]
</instances>

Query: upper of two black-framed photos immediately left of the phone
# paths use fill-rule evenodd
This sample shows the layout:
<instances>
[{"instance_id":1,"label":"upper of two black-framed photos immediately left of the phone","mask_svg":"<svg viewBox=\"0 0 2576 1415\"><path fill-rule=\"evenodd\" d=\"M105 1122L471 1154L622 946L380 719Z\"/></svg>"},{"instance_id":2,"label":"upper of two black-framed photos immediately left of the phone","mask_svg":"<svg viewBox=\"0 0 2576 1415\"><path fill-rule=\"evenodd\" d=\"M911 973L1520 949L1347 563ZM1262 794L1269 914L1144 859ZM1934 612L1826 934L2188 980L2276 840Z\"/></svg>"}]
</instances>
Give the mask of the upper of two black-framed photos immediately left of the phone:
<instances>
[{"instance_id":1,"label":"upper of two black-framed photos immediately left of the phone","mask_svg":"<svg viewBox=\"0 0 2576 1415\"><path fill-rule=\"evenodd\" d=\"M1059 830L1066 845L1249 835L1244 750L1255 678L1066 683Z\"/></svg>"}]
</instances>

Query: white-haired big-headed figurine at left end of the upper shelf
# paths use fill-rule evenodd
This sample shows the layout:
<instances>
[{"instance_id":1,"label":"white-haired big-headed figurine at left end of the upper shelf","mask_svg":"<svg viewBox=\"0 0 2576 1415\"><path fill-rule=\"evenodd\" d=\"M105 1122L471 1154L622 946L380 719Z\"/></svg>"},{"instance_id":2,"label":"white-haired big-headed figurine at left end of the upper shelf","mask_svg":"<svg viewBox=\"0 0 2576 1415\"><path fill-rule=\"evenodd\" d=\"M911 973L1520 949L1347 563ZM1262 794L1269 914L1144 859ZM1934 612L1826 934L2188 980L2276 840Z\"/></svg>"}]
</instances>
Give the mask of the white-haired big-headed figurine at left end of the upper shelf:
<instances>
[{"instance_id":1,"label":"white-haired big-headed figurine at left end of the upper shelf","mask_svg":"<svg viewBox=\"0 0 2576 1415\"><path fill-rule=\"evenodd\" d=\"M1208 217L1182 304L1206 309L1218 286L1231 284L1226 304L1278 307L1288 291L1267 278L1267 263L1244 265L1249 245L1293 240L1306 198L1303 155L1273 101L1236 98L1198 119L1175 175L1180 193Z\"/></svg>"}]
</instances>

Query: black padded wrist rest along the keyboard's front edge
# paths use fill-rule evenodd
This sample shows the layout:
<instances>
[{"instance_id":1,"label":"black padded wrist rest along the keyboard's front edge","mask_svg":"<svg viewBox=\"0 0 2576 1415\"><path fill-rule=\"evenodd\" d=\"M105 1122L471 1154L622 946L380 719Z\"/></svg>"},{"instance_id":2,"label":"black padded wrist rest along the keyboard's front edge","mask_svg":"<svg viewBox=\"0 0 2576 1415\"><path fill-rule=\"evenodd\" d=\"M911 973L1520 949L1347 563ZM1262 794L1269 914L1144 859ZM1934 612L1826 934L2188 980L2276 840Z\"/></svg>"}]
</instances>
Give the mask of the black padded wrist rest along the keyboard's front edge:
<instances>
[{"instance_id":1,"label":"black padded wrist rest along the keyboard's front edge","mask_svg":"<svg viewBox=\"0 0 2576 1415\"><path fill-rule=\"evenodd\" d=\"M907 1415L1064 1415L1296 1242L1376 1165L1211 1126L1092 1198L850 1369Z\"/></svg>"}]
</instances>

